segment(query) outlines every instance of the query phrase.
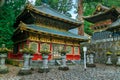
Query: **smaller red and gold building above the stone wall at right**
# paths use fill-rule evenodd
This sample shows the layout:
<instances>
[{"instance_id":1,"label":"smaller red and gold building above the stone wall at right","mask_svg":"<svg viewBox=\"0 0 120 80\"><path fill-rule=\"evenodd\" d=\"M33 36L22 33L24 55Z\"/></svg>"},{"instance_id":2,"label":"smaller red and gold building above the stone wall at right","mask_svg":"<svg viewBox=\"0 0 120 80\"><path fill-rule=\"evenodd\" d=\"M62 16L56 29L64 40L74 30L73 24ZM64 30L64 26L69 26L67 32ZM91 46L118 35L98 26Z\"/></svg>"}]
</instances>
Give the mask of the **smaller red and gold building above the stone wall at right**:
<instances>
[{"instance_id":1,"label":"smaller red and gold building above the stone wall at right","mask_svg":"<svg viewBox=\"0 0 120 80\"><path fill-rule=\"evenodd\" d=\"M120 37L120 31L110 28L113 24L118 24L120 8L108 8L99 4L92 15L84 17L84 20L92 23L90 28L94 31L91 42L106 42ZM109 30L112 29L112 30Z\"/></svg>"}]
</instances>

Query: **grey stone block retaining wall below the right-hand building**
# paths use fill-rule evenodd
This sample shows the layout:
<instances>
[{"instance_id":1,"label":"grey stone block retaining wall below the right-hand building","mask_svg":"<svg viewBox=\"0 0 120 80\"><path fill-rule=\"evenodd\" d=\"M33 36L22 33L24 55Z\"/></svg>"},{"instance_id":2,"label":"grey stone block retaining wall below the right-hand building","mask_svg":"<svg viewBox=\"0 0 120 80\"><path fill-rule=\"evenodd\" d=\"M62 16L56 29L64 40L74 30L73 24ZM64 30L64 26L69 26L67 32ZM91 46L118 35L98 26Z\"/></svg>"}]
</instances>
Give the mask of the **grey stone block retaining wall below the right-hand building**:
<instances>
[{"instance_id":1,"label":"grey stone block retaining wall below the right-hand building","mask_svg":"<svg viewBox=\"0 0 120 80\"><path fill-rule=\"evenodd\" d=\"M88 47L88 51L90 50L95 52L94 60L96 63L105 64L107 60L106 52L111 51L112 62L115 64L117 60L116 51L120 50L120 40L88 43L86 46Z\"/></svg>"}]
</instances>

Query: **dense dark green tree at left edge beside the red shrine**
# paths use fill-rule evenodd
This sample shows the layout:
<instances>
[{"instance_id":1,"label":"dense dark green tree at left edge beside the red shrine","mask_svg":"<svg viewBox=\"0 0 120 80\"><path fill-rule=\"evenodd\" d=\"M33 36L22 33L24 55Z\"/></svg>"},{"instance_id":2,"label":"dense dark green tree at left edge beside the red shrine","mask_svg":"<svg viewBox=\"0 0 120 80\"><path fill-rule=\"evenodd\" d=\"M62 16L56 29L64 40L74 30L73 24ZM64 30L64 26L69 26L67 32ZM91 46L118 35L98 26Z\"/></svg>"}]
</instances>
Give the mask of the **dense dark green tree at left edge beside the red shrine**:
<instances>
[{"instance_id":1,"label":"dense dark green tree at left edge beside the red shrine","mask_svg":"<svg viewBox=\"0 0 120 80\"><path fill-rule=\"evenodd\" d=\"M0 44L6 44L8 48L13 46L11 40L14 32L13 24L25 3L26 0L6 0L0 7Z\"/></svg>"}]
</instances>

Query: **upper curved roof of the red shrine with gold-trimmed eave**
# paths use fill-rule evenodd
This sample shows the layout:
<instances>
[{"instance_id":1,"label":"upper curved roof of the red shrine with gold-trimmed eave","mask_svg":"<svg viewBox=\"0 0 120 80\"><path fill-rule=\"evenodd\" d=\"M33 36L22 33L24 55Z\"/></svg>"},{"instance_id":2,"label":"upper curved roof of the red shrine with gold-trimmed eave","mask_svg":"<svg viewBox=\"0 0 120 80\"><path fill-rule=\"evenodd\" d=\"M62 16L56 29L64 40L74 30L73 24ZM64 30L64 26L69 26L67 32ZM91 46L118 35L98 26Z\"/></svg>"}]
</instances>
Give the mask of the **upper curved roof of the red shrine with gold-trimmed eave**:
<instances>
[{"instance_id":1,"label":"upper curved roof of the red shrine with gold-trimmed eave","mask_svg":"<svg viewBox=\"0 0 120 80\"><path fill-rule=\"evenodd\" d=\"M26 10L28 10L28 12L32 11L34 13L37 13L37 14L45 16L45 17L49 17L49 18L56 19L56 20L63 21L63 22L68 22L73 25L80 26L82 24L82 22L72 19L72 18L70 18L64 14L61 14L61 13L57 12L56 10L50 8L47 4L44 4L41 6L33 6L29 3L26 5L25 9L23 10L23 12L20 13L20 15L17 17L17 19L21 18L21 16L25 14Z\"/></svg>"}]
</instances>

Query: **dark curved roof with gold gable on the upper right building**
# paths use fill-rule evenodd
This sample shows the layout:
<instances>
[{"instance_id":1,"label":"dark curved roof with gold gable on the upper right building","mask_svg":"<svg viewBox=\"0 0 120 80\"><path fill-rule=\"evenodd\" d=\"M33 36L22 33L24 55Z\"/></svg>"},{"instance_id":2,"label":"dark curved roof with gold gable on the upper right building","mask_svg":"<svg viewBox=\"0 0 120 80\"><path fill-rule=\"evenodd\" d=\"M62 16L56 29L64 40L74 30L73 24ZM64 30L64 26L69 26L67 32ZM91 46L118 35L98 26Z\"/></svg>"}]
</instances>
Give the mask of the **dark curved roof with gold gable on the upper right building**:
<instances>
[{"instance_id":1,"label":"dark curved roof with gold gable on the upper right building","mask_svg":"<svg viewBox=\"0 0 120 80\"><path fill-rule=\"evenodd\" d=\"M111 19L112 21L117 20L117 17L120 15L120 8L108 8L101 4L98 4L95 12L90 16L84 16L83 18L91 23L97 23L100 21Z\"/></svg>"}]
</instances>

